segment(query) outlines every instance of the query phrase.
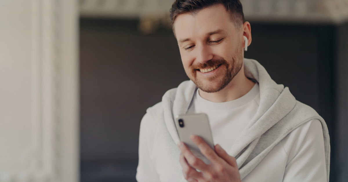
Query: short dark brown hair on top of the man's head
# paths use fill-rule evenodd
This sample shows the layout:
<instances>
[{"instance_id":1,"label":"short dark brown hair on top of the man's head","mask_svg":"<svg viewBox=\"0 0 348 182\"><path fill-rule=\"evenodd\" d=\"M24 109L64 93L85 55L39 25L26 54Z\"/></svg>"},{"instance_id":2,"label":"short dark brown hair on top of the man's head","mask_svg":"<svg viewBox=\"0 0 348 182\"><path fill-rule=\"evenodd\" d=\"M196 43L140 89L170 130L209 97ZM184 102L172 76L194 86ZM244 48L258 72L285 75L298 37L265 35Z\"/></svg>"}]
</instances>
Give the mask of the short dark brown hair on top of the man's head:
<instances>
[{"instance_id":1,"label":"short dark brown hair on top of the man's head","mask_svg":"<svg viewBox=\"0 0 348 182\"><path fill-rule=\"evenodd\" d=\"M172 25L178 15L196 14L203 8L217 4L222 4L226 8L236 28L245 22L243 6L239 0L175 0L170 10Z\"/></svg>"}]
</instances>

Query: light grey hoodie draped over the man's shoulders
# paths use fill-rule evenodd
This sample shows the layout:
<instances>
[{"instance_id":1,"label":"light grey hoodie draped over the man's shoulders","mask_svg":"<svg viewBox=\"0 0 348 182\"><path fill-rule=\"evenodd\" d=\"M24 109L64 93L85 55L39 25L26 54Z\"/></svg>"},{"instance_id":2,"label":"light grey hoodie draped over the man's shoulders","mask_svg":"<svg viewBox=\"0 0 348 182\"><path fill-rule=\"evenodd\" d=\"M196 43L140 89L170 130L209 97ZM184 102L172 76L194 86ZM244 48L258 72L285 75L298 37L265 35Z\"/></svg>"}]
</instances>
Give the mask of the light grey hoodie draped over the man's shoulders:
<instances>
[{"instance_id":1,"label":"light grey hoodie draped over the man's shoulders","mask_svg":"<svg viewBox=\"0 0 348 182\"><path fill-rule=\"evenodd\" d=\"M240 178L249 174L267 155L267 153L292 130L312 119L322 123L326 159L327 181L330 172L330 138L326 123L310 106L296 101L289 88L276 84L263 66L255 60L244 58L245 76L257 81L260 86L260 106L253 119L239 135L230 151L237 159ZM177 147L177 135L174 116L184 114L192 101L196 85L184 81L179 87L168 90L162 102L147 110L165 139L170 151L171 165L180 181L186 181L179 163L180 150Z\"/></svg>"}]
</instances>

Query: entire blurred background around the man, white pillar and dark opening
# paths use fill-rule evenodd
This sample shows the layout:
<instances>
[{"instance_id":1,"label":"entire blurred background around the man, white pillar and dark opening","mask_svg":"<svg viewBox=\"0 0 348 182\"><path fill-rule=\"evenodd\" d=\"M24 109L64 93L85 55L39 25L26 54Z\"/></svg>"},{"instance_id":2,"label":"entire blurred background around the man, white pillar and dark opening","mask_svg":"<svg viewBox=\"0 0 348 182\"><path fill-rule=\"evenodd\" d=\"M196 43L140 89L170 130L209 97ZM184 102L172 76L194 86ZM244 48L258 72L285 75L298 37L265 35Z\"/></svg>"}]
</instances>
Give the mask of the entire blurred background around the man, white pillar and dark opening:
<instances>
[{"instance_id":1,"label":"entire blurred background around the man, white pillar and dark opening","mask_svg":"<svg viewBox=\"0 0 348 182\"><path fill-rule=\"evenodd\" d=\"M0 181L135 182L140 121L188 80L174 0L0 1ZM240 0L246 58L326 121L348 181L348 0Z\"/></svg>"}]
</instances>

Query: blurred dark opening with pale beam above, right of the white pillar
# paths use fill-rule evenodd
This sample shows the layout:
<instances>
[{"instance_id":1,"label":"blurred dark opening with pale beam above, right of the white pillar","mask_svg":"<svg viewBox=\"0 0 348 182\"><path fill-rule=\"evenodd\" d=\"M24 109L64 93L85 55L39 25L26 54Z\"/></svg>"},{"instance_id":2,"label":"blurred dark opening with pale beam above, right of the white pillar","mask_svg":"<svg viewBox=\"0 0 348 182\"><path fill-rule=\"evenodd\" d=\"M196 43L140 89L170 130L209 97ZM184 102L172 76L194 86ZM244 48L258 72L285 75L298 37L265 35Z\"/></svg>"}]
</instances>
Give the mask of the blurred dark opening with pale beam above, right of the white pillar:
<instances>
[{"instance_id":1,"label":"blurred dark opening with pale beam above, right of the white pillar","mask_svg":"<svg viewBox=\"0 0 348 182\"><path fill-rule=\"evenodd\" d=\"M169 22L173 2L79 2L82 182L135 181L146 109L188 80ZM241 2L253 38L245 57L325 119L331 181L348 181L348 1Z\"/></svg>"}]
</instances>

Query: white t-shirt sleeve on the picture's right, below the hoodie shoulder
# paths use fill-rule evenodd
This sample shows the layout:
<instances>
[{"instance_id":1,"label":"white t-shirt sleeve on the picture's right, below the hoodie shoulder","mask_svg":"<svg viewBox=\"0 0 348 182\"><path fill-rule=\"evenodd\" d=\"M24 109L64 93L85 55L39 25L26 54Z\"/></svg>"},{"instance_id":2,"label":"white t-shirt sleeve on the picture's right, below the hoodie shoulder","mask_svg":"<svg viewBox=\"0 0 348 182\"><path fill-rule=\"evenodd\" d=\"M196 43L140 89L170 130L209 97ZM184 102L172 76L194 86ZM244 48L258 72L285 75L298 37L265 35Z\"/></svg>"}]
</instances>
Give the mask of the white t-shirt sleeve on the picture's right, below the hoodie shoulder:
<instances>
[{"instance_id":1,"label":"white t-shirt sleeve on the picture's right, below the hoodie shoulder","mask_svg":"<svg viewBox=\"0 0 348 182\"><path fill-rule=\"evenodd\" d=\"M319 120L308 121L299 131L288 151L283 182L326 182L326 162L322 124ZM301 137L303 136L303 137Z\"/></svg>"}]
</instances>

